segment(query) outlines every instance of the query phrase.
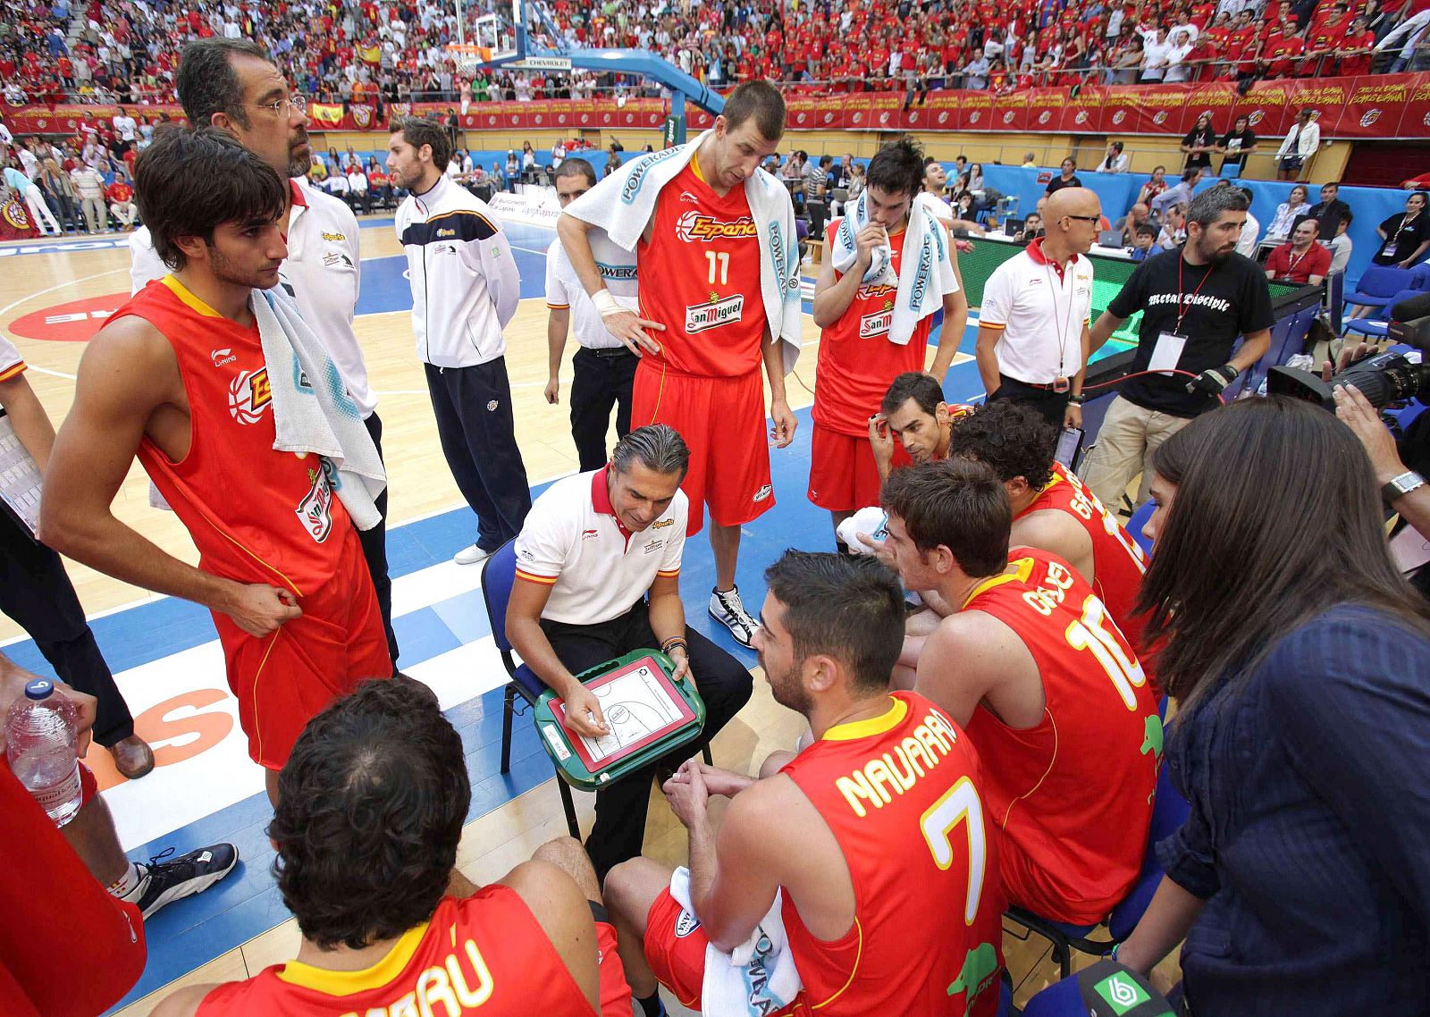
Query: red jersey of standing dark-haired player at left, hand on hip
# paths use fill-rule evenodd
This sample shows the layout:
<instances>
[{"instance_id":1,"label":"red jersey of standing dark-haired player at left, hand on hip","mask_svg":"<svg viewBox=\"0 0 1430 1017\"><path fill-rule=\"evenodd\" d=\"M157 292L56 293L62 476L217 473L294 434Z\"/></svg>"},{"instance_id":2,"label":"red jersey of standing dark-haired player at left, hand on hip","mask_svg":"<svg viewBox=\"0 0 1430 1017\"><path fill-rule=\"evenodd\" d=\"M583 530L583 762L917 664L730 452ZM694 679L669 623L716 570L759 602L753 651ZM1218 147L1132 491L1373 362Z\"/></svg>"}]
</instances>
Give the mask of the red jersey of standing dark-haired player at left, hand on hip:
<instances>
[{"instance_id":1,"label":"red jersey of standing dark-haired player at left, hand on hip","mask_svg":"<svg viewBox=\"0 0 1430 1017\"><path fill-rule=\"evenodd\" d=\"M337 571L352 521L320 456L273 448L257 325L230 322L173 276L144 286L110 320L126 315L159 329L179 360L189 396L189 455L173 462L144 438L139 461L187 526L200 568L296 595L316 591Z\"/></svg>"}]
</instances>

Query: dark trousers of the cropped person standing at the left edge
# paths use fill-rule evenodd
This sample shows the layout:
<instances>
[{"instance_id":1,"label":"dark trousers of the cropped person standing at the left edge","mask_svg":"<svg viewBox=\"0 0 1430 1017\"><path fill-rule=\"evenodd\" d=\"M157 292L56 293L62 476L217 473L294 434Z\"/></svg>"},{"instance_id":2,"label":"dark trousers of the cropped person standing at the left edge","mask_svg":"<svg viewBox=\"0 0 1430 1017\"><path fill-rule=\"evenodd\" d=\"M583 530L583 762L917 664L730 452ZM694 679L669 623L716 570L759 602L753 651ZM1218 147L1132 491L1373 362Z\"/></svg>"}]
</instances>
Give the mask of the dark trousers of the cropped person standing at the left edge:
<instances>
[{"instance_id":1,"label":"dark trousers of the cropped person standing at the left edge","mask_svg":"<svg viewBox=\"0 0 1430 1017\"><path fill-rule=\"evenodd\" d=\"M6 512L0 512L0 612L30 634L61 681L99 699L94 741L110 748L134 734L129 704L99 652L64 564Z\"/></svg>"}]
</instances>

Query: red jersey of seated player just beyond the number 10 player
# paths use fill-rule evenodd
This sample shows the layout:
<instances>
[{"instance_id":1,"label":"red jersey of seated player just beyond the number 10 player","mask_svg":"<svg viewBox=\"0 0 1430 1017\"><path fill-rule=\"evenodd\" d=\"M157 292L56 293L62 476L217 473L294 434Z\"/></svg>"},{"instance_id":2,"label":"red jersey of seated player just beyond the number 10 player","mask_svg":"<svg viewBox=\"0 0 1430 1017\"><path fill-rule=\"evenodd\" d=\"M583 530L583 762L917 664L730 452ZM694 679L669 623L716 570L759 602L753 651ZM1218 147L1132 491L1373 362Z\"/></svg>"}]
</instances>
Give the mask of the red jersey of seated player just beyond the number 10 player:
<instances>
[{"instance_id":1,"label":"red jersey of seated player just beyond the number 10 player","mask_svg":"<svg viewBox=\"0 0 1430 1017\"><path fill-rule=\"evenodd\" d=\"M1137 604L1143 575L1147 574L1147 555L1133 535L1103 506L1097 495L1083 485L1077 473L1060 462L1052 463L1052 479L1018 518L1047 509L1067 512L1083 524L1083 529L1093 541L1093 589L1107 605L1117 628L1141 657L1144 622L1133 606Z\"/></svg>"}]
</instances>

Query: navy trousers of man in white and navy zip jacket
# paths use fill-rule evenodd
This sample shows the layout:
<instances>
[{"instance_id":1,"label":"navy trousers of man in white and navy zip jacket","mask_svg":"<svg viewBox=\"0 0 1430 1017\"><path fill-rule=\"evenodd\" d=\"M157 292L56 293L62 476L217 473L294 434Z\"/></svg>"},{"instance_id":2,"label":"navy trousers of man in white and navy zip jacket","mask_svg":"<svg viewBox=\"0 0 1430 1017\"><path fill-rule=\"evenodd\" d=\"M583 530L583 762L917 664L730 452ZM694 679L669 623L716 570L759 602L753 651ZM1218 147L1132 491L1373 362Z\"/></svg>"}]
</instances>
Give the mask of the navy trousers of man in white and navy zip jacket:
<instances>
[{"instance_id":1,"label":"navy trousers of man in white and navy zip jacket","mask_svg":"<svg viewBox=\"0 0 1430 1017\"><path fill-rule=\"evenodd\" d=\"M516 448L506 358L472 368L423 368L442 455L476 512L476 546L496 551L521 532L532 506L526 466Z\"/></svg>"}]
</instances>

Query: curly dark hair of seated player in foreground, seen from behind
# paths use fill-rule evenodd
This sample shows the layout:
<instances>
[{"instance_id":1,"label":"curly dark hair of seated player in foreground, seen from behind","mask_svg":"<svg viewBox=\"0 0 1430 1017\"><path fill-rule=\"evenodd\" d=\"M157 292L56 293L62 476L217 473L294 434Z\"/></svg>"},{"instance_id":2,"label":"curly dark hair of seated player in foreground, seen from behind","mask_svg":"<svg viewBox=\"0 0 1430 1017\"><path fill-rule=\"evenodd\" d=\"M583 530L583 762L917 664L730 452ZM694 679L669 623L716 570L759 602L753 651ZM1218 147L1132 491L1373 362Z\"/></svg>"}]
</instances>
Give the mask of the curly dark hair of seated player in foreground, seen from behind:
<instances>
[{"instance_id":1,"label":"curly dark hair of seated player in foreground, seen from behind","mask_svg":"<svg viewBox=\"0 0 1430 1017\"><path fill-rule=\"evenodd\" d=\"M267 830L303 937L360 950L429 920L470 800L462 740L426 685L368 681L310 719Z\"/></svg>"}]
</instances>

